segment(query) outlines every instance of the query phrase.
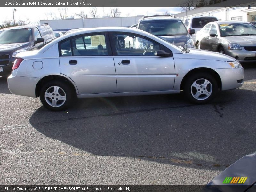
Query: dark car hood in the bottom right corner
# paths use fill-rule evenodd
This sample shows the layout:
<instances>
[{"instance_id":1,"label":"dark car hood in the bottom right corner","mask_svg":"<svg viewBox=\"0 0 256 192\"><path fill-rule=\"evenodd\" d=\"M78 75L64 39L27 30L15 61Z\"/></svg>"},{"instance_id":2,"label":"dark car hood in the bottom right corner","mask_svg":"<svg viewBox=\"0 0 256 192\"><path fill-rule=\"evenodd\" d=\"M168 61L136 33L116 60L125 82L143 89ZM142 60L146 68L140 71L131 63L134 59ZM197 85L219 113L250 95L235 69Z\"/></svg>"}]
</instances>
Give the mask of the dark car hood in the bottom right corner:
<instances>
[{"instance_id":1,"label":"dark car hood in the bottom right corner","mask_svg":"<svg viewBox=\"0 0 256 192\"><path fill-rule=\"evenodd\" d=\"M241 181L245 180L245 182L239 183L240 180ZM215 177L203 189L203 191L209 191L209 192L255 191L256 189L255 183L256 183L256 152L250 155L246 155L241 159L239 159L238 161L236 161L234 164L230 165L227 169L225 169L217 177Z\"/></svg>"}]
</instances>

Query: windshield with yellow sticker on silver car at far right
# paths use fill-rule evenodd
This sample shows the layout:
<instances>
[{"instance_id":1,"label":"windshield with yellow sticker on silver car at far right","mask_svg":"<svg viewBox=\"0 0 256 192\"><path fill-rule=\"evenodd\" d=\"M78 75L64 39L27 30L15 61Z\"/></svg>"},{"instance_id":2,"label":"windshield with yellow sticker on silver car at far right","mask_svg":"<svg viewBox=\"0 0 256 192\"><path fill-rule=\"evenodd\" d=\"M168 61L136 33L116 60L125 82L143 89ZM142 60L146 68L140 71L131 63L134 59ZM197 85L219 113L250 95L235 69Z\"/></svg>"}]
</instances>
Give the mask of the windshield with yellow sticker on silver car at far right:
<instances>
[{"instance_id":1,"label":"windshield with yellow sticker on silver car at far right","mask_svg":"<svg viewBox=\"0 0 256 192\"><path fill-rule=\"evenodd\" d=\"M251 23L220 24L219 27L222 37L256 35L256 27Z\"/></svg>"}]
</instances>

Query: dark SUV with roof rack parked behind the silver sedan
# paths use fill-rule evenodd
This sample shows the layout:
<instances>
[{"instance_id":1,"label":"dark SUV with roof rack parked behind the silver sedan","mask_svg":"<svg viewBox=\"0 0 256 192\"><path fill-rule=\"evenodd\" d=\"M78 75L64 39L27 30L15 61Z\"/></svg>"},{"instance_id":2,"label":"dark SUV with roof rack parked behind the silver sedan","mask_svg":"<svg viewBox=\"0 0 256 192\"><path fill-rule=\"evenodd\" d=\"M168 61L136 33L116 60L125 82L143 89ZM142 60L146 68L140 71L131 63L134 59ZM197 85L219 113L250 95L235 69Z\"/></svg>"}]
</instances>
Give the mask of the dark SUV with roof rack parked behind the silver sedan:
<instances>
[{"instance_id":1,"label":"dark SUV with roof rack parked behind the silver sedan","mask_svg":"<svg viewBox=\"0 0 256 192\"><path fill-rule=\"evenodd\" d=\"M159 38L168 41L176 46L182 46L186 48L195 48L194 42L191 38L193 30L188 33L185 25L180 18L174 15L152 15L142 17L136 26L137 29L141 29L148 33L151 33ZM133 48L134 46L145 46L144 42L140 42L140 39L133 38L125 39L126 47Z\"/></svg>"}]
</instances>

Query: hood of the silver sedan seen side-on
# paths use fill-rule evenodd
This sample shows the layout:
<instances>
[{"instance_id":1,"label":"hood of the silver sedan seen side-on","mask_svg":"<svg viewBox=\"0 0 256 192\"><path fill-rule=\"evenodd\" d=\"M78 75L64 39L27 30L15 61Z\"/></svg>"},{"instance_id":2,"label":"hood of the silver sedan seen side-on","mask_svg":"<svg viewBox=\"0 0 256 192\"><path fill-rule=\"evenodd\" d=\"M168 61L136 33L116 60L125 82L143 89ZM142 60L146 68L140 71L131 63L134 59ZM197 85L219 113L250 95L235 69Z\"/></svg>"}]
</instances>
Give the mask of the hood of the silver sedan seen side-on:
<instances>
[{"instance_id":1,"label":"hood of the silver sedan seen side-on","mask_svg":"<svg viewBox=\"0 0 256 192\"><path fill-rule=\"evenodd\" d=\"M182 54L182 58L186 59L203 59L203 60L217 60L217 61L234 61L233 57L228 55L224 55L218 52L206 51L206 50L199 50L199 49L189 49L189 53ZM178 56L178 54L177 54ZM176 56L176 57L177 57Z\"/></svg>"}]
</instances>

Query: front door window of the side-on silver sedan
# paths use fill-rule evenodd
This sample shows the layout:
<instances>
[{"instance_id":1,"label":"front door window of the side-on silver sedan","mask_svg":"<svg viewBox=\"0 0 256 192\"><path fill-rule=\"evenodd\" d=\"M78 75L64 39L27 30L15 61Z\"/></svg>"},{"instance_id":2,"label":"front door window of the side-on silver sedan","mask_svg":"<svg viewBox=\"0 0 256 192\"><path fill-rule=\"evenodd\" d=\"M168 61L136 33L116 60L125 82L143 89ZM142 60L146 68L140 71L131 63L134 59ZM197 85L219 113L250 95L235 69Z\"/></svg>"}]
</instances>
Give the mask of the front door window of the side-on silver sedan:
<instances>
[{"instance_id":1,"label":"front door window of the side-on silver sedan","mask_svg":"<svg viewBox=\"0 0 256 192\"><path fill-rule=\"evenodd\" d=\"M119 44L118 39L120 38L124 38L125 45L123 47ZM156 52L163 47L148 38L129 33L113 33L111 41L117 55L156 56Z\"/></svg>"}]
</instances>

